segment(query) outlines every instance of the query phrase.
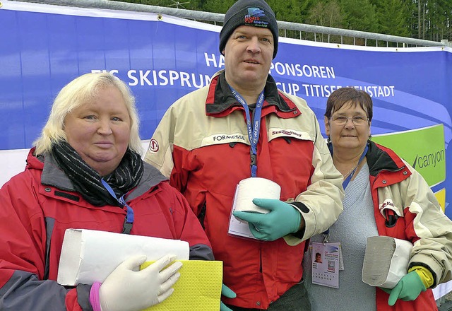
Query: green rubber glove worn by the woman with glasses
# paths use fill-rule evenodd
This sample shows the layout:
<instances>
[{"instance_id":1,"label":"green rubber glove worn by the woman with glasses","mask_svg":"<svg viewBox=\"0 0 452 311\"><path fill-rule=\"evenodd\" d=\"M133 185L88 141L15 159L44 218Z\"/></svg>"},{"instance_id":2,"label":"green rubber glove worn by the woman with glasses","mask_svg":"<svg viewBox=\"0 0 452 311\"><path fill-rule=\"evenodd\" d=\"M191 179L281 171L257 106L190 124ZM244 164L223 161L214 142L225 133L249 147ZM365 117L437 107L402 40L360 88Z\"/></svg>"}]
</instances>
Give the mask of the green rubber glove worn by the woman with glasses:
<instances>
[{"instance_id":1,"label":"green rubber glove worn by the woman with glasses","mask_svg":"<svg viewBox=\"0 0 452 311\"><path fill-rule=\"evenodd\" d=\"M411 271L403 278L400 278L400 281L393 289L381 289L389 294L388 305L395 305L398 299L405 301L415 300L422 291L427 290L416 271Z\"/></svg>"}]
</instances>

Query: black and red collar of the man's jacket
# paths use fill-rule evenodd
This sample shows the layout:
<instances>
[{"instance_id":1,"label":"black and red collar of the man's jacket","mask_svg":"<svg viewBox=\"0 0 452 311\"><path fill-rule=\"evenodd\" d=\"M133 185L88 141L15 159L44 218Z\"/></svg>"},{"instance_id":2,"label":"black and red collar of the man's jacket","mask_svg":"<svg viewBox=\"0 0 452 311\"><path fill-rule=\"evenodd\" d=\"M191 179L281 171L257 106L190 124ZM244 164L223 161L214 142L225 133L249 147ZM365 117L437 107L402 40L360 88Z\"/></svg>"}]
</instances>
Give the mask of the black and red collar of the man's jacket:
<instances>
[{"instance_id":1,"label":"black and red collar of the man's jacket","mask_svg":"<svg viewBox=\"0 0 452 311\"><path fill-rule=\"evenodd\" d=\"M279 117L285 119L301 115L297 106L278 90L275 80L268 75L265 86L265 102L263 109L273 107ZM232 111L243 109L242 105L232 94L229 84L226 82L225 70L219 71L212 79L206 99L206 115L211 117L223 117ZM271 112L271 111L270 111Z\"/></svg>"}]
</instances>

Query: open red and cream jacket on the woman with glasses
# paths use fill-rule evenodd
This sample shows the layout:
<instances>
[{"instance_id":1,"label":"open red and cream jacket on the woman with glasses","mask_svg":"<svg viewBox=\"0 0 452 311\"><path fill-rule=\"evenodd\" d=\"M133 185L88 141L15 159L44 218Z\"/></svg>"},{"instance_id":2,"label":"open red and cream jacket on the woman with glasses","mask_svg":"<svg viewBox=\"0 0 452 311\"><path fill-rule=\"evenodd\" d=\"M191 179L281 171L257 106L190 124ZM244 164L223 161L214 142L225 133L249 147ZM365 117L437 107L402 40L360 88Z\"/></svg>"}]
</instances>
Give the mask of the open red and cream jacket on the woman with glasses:
<instances>
[{"instance_id":1,"label":"open red and cream jacket on the woman with glasses","mask_svg":"<svg viewBox=\"0 0 452 311\"><path fill-rule=\"evenodd\" d=\"M366 155L379 235L413 243L408 268L424 266L434 278L432 287L452 279L452 221L422 176L391 149L372 141ZM383 310L437 310L432 290L413 301L388 305L388 293L376 288L376 306Z\"/></svg>"}]
</instances>

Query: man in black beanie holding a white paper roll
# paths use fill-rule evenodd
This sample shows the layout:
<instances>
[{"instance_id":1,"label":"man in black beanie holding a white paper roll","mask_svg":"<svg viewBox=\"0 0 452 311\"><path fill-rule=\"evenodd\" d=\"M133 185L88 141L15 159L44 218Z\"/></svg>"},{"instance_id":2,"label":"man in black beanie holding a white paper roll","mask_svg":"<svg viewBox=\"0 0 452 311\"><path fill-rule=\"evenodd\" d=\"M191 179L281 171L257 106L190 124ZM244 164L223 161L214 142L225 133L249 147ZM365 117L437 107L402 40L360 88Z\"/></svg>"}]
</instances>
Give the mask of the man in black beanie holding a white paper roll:
<instances>
[{"instance_id":1,"label":"man in black beanie holding a white paper roll","mask_svg":"<svg viewBox=\"0 0 452 311\"><path fill-rule=\"evenodd\" d=\"M314 112L268 74L277 51L270 6L237 1L220 32L225 70L169 107L145 155L184 194L223 262L220 310L311 310L306 242L343 209L343 177ZM263 179L280 186L279 199L247 191L267 213L234 211L237 184Z\"/></svg>"}]
</instances>

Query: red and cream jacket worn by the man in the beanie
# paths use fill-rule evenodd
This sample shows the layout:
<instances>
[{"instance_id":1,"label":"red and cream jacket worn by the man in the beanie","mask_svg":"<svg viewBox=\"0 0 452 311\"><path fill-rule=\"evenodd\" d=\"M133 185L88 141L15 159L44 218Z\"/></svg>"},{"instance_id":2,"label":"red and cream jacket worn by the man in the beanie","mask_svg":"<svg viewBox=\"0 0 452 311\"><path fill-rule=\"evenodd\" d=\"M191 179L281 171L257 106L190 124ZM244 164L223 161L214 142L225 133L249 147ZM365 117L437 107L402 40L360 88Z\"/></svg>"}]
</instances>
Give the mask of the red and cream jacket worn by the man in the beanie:
<instances>
[{"instance_id":1,"label":"red and cream jacket worn by the man in the beanie","mask_svg":"<svg viewBox=\"0 0 452 311\"><path fill-rule=\"evenodd\" d=\"M297 236L262 242L227 233L235 187L251 170L244 108L224 71L169 107L145 155L201 218L215 259L224 262L224 283L237 293L225 303L258 309L301 280L304 241L326 230L343 209L343 178L314 112L302 98L278 90L271 76L265 96L257 176L277 182L280 199L301 206L306 228Z\"/></svg>"}]
</instances>

